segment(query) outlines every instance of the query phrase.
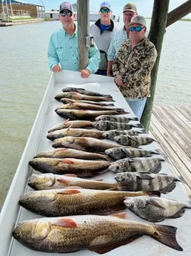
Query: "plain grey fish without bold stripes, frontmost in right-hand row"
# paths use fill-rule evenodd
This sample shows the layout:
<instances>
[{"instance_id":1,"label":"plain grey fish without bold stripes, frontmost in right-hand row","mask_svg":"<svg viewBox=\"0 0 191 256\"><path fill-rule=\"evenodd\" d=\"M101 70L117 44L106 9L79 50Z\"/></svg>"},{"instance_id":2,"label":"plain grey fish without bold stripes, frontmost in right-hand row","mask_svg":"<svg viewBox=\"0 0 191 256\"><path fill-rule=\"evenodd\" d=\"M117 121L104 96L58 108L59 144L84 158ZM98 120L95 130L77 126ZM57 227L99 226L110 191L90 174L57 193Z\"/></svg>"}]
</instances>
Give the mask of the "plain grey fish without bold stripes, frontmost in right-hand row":
<instances>
[{"instance_id":1,"label":"plain grey fish without bold stripes, frontmost in right-hand row","mask_svg":"<svg viewBox=\"0 0 191 256\"><path fill-rule=\"evenodd\" d=\"M125 206L139 217L159 222L167 218L181 217L186 208L191 208L191 201L178 202L162 197L125 197Z\"/></svg>"}]
</instances>

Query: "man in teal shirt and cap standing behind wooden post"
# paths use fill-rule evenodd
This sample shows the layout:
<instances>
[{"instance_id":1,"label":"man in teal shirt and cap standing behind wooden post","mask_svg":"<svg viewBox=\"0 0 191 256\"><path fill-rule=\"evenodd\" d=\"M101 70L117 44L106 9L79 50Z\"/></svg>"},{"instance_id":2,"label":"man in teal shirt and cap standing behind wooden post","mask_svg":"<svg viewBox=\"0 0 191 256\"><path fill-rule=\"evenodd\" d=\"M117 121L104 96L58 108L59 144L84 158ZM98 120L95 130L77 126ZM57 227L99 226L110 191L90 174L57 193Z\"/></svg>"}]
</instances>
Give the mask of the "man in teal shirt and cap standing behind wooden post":
<instances>
[{"instance_id":1,"label":"man in teal shirt and cap standing behind wooden post","mask_svg":"<svg viewBox=\"0 0 191 256\"><path fill-rule=\"evenodd\" d=\"M78 70L78 33L76 31L75 13L68 2L63 2L59 8L59 20L63 27L52 33L48 45L47 58L50 70ZM88 77L98 70L100 53L96 46L88 48L87 67L81 72L81 77Z\"/></svg>"}]
</instances>

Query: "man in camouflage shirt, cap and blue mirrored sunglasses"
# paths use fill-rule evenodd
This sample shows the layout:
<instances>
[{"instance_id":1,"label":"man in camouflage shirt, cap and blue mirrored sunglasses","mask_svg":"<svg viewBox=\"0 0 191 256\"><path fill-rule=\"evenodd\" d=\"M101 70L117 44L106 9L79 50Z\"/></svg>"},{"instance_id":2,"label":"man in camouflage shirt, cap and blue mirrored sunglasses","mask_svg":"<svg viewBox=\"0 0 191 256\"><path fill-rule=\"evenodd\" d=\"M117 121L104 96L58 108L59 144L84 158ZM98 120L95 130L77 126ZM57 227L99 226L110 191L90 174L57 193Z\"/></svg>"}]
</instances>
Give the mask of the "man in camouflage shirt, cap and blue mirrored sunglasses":
<instances>
[{"instance_id":1,"label":"man in camouflage shirt, cap and blue mirrored sunglasses","mask_svg":"<svg viewBox=\"0 0 191 256\"><path fill-rule=\"evenodd\" d=\"M122 43L112 66L115 84L138 119L150 96L150 73L157 58L155 45L145 36L146 29L143 16L131 19L130 39Z\"/></svg>"}]
</instances>

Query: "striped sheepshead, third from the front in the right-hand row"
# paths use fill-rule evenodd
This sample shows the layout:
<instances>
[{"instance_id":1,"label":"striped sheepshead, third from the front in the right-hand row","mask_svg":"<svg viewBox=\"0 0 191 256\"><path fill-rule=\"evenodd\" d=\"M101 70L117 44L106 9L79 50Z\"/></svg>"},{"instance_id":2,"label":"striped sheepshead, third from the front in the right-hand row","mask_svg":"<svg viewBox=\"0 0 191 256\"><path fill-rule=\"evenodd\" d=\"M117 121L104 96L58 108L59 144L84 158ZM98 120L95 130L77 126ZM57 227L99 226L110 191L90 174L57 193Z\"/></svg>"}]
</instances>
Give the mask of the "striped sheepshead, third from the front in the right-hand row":
<instances>
[{"instance_id":1,"label":"striped sheepshead, third from the front in the right-hand row","mask_svg":"<svg viewBox=\"0 0 191 256\"><path fill-rule=\"evenodd\" d=\"M109 166L109 171L117 172L127 172L127 171L137 171L137 172L148 172L148 173L158 173L161 170L161 161L159 159L144 159L139 160L130 159L128 157L120 160L116 160Z\"/></svg>"}]
</instances>

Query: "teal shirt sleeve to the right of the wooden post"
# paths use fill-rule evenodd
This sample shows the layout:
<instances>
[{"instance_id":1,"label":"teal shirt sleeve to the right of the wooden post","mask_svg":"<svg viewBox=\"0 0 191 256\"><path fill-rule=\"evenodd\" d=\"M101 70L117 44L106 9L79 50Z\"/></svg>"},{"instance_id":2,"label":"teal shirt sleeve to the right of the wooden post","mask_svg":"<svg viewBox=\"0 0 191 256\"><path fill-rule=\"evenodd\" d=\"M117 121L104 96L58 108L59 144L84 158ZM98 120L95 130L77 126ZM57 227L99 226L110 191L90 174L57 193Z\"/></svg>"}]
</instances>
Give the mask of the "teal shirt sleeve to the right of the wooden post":
<instances>
[{"instance_id":1,"label":"teal shirt sleeve to the right of the wooden post","mask_svg":"<svg viewBox=\"0 0 191 256\"><path fill-rule=\"evenodd\" d=\"M94 47L89 47L88 55L88 65L86 68L90 70L90 73L96 73L100 62L100 53L96 44L94 44Z\"/></svg>"}]
</instances>

